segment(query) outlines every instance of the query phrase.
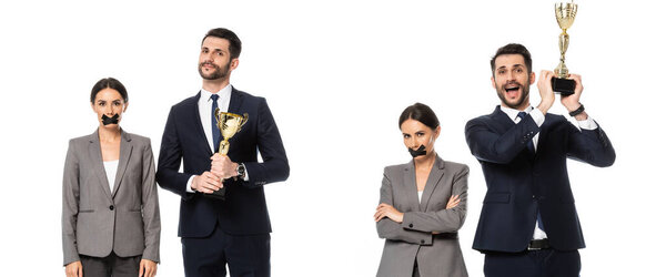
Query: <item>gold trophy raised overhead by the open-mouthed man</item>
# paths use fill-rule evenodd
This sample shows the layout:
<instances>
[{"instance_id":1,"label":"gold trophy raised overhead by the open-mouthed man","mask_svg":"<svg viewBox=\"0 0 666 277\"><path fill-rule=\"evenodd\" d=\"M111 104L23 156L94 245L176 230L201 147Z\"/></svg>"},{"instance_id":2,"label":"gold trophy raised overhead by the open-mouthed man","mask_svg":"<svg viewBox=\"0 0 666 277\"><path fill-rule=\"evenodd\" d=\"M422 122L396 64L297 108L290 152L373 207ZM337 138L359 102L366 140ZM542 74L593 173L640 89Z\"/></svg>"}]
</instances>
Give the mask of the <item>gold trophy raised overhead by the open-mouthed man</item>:
<instances>
[{"instance_id":1,"label":"gold trophy raised overhead by the open-mouthed man","mask_svg":"<svg viewBox=\"0 0 666 277\"><path fill-rule=\"evenodd\" d=\"M572 0L571 3L555 3L555 18L562 29L559 34L559 64L555 69L555 75L552 81L553 91L558 92L562 96L568 96L574 94L576 89L576 81L568 79L568 69L564 64L564 54L568 48L568 34L566 30L572 27L574 19L576 19L576 12L578 6Z\"/></svg>"}]
</instances>

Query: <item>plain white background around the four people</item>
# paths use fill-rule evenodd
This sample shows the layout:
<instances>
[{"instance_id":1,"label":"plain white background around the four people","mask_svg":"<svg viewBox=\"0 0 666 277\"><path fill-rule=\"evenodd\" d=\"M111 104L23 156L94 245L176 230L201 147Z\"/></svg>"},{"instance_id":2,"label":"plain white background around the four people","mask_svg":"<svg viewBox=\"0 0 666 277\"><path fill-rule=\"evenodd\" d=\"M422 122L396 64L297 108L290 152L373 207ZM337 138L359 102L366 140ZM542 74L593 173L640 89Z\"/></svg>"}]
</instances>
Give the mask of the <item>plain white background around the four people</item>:
<instances>
[{"instance_id":1,"label":"plain white background around the four people","mask_svg":"<svg viewBox=\"0 0 666 277\"><path fill-rule=\"evenodd\" d=\"M442 122L445 160L470 165L460 232L471 276L485 182L467 120L498 104L490 59L525 44L534 70L557 65L553 1L3 1L0 4L2 276L63 276L61 179L68 140L97 127L90 89L128 88L124 130L152 138L171 105L194 95L211 28L243 41L235 88L265 96L291 165L265 187L273 276L374 276L383 240L372 219L382 168L405 163L397 117L418 101ZM664 276L660 1L577 1L567 65L582 102L610 137L609 168L569 162L587 248L583 276ZM538 92L532 86L532 103ZM562 113L558 102L552 109ZM160 189L160 276L182 276L179 197ZM21 274L22 273L22 274Z\"/></svg>"}]
</instances>

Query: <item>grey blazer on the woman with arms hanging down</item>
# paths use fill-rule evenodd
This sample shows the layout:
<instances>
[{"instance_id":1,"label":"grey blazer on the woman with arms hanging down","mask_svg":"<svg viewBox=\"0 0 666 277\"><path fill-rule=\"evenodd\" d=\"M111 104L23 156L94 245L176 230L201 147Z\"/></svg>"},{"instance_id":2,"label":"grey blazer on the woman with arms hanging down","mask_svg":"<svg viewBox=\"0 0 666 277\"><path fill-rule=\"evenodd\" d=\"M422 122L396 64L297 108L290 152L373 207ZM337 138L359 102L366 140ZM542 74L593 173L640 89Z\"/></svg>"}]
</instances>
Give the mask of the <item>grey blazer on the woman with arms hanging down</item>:
<instances>
[{"instance_id":1,"label":"grey blazer on the woman with arms hanging down","mask_svg":"<svg viewBox=\"0 0 666 277\"><path fill-rule=\"evenodd\" d=\"M150 138L121 130L113 192L98 131L69 142L62 178L63 264L79 254L160 261L160 208Z\"/></svg>"}]
</instances>

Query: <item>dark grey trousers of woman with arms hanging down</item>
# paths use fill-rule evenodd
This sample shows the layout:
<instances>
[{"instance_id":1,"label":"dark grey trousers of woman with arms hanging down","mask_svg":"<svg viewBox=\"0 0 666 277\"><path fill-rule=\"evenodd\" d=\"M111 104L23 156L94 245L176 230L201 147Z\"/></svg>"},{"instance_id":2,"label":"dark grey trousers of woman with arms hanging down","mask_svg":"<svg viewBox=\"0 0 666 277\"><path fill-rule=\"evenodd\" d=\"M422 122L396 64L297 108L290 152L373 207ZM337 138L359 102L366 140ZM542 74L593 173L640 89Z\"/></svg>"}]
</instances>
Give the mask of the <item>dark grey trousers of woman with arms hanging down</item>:
<instances>
[{"instance_id":1,"label":"dark grey trousers of woman with arms hanging down","mask_svg":"<svg viewBox=\"0 0 666 277\"><path fill-rule=\"evenodd\" d=\"M81 255L83 276L85 277L137 277L141 255L133 257L119 257L115 253L107 257L91 257Z\"/></svg>"}]
</instances>

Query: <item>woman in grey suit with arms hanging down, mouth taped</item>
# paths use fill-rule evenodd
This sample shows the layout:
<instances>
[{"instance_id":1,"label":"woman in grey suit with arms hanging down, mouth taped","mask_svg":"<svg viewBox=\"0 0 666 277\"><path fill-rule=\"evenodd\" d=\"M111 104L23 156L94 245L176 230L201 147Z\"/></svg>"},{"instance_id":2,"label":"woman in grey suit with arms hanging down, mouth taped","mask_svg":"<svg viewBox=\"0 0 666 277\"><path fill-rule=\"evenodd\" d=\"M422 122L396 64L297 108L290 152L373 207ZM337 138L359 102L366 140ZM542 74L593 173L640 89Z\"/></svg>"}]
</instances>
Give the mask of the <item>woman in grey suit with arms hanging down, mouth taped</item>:
<instances>
[{"instance_id":1,"label":"woman in grey suit with arms hanging down, mouth taped","mask_svg":"<svg viewBox=\"0 0 666 277\"><path fill-rule=\"evenodd\" d=\"M149 276L160 260L160 209L148 137L119 125L128 93L107 78L92 88L99 126L69 142L62 181L68 277Z\"/></svg>"}]
</instances>

